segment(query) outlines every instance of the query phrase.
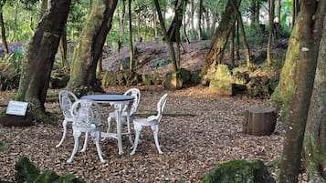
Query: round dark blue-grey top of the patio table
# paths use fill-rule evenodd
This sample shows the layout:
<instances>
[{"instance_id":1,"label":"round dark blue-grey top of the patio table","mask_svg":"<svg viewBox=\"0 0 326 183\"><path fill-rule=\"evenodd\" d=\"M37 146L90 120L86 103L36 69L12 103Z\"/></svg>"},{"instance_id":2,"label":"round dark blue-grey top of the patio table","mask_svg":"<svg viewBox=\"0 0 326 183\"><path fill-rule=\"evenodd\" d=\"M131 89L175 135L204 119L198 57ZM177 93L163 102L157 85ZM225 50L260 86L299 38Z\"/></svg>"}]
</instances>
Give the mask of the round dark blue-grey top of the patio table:
<instances>
[{"instance_id":1,"label":"round dark blue-grey top of the patio table","mask_svg":"<svg viewBox=\"0 0 326 183\"><path fill-rule=\"evenodd\" d=\"M95 101L129 101L133 100L133 96L125 96L125 95L110 95L110 94L100 94L100 95L89 95L83 96L82 99L89 99Z\"/></svg>"}]
</instances>

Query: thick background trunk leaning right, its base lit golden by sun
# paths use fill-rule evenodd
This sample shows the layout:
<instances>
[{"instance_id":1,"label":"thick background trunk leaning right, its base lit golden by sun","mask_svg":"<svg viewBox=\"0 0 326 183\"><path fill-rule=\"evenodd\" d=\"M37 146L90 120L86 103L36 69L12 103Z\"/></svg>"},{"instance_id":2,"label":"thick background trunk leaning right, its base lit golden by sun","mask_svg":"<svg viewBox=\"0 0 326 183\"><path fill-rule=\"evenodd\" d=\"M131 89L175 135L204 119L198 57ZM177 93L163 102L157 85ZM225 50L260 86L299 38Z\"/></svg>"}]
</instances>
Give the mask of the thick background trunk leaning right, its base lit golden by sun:
<instances>
[{"instance_id":1,"label":"thick background trunk leaning right, its base lit golden by sun","mask_svg":"<svg viewBox=\"0 0 326 183\"><path fill-rule=\"evenodd\" d=\"M216 28L215 34L212 37L210 48L205 57L205 63L202 68L204 81L209 81L214 78L216 66L221 63L224 50L226 48L227 38L235 24L236 15L232 7L233 0L228 0L226 9L222 15L221 21ZM237 2L237 8L241 1Z\"/></svg>"}]
</instances>

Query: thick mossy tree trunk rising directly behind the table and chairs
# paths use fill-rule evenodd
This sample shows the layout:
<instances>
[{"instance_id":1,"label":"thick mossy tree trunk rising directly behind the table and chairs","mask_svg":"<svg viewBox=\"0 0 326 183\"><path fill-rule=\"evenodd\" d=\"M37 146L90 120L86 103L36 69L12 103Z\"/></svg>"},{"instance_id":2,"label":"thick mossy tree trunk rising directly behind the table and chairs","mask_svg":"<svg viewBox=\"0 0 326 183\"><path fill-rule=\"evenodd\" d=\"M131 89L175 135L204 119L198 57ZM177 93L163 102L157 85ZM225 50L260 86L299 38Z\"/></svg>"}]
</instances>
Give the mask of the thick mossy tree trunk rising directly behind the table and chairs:
<instances>
[{"instance_id":1,"label":"thick mossy tree trunk rising directly behind the table and chairs","mask_svg":"<svg viewBox=\"0 0 326 183\"><path fill-rule=\"evenodd\" d=\"M100 82L96 79L96 67L111 27L117 2L118 0L92 2L88 20L79 36L70 65L67 88L78 95L89 91L103 91Z\"/></svg>"}]
</instances>

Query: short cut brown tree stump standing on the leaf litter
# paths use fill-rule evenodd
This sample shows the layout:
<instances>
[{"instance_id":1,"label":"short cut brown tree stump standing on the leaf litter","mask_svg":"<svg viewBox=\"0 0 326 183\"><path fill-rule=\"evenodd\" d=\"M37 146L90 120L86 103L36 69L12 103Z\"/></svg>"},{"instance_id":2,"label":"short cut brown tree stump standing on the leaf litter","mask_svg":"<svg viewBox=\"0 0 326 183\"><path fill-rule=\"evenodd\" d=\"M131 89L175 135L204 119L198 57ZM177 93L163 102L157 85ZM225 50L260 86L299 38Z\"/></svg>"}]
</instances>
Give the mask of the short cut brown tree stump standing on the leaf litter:
<instances>
[{"instance_id":1,"label":"short cut brown tree stump standing on the leaf litter","mask_svg":"<svg viewBox=\"0 0 326 183\"><path fill-rule=\"evenodd\" d=\"M269 136L274 132L277 114L275 108L267 106L249 107L242 124L243 133L254 136Z\"/></svg>"}]
</instances>

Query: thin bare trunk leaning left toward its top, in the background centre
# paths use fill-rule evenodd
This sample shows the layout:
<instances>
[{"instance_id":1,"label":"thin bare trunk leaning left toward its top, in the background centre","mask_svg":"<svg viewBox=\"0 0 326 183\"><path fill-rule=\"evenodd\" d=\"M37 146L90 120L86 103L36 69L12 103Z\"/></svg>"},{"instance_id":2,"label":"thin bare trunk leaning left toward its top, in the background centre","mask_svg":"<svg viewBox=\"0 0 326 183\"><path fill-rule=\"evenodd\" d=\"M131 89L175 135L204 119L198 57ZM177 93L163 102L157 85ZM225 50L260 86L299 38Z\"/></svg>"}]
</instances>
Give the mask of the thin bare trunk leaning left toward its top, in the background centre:
<instances>
[{"instance_id":1,"label":"thin bare trunk leaning left toward its top, in the background centre","mask_svg":"<svg viewBox=\"0 0 326 183\"><path fill-rule=\"evenodd\" d=\"M174 71L178 71L178 66L176 64L176 59L175 59L175 53L174 53L174 43L172 42L172 40L170 39L170 36L167 34L165 25L164 25L164 20L163 20L163 15L161 12L161 7L159 4L158 0L154 0L154 4L155 4L155 8L157 11L157 15L159 16L159 21L160 21L160 25L162 28L162 32L163 32L163 36L165 39L166 44L169 46L169 50L170 50L170 56L171 56L171 61L172 61L172 67L174 69Z\"/></svg>"}]
</instances>

